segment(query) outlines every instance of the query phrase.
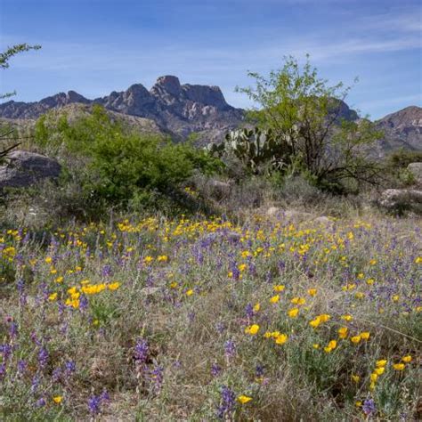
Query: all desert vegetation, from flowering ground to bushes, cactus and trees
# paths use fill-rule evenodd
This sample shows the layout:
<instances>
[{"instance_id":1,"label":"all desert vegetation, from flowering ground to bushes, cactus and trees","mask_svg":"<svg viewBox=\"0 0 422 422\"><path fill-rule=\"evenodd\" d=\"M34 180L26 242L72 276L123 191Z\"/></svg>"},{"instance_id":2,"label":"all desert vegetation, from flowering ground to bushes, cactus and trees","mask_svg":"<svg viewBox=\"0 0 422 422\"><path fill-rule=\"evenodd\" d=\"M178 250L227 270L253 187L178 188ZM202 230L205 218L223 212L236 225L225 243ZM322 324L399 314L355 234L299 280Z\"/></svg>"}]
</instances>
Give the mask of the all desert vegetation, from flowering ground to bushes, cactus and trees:
<instances>
[{"instance_id":1,"label":"all desert vegetation, from flowering ground to bushes, cactus and trees","mask_svg":"<svg viewBox=\"0 0 422 422\"><path fill-rule=\"evenodd\" d=\"M207 148L100 105L4 127L61 165L1 191L4 420L422 417L420 217L374 200L420 154L374 158L309 61L251 76Z\"/></svg>"}]
</instances>

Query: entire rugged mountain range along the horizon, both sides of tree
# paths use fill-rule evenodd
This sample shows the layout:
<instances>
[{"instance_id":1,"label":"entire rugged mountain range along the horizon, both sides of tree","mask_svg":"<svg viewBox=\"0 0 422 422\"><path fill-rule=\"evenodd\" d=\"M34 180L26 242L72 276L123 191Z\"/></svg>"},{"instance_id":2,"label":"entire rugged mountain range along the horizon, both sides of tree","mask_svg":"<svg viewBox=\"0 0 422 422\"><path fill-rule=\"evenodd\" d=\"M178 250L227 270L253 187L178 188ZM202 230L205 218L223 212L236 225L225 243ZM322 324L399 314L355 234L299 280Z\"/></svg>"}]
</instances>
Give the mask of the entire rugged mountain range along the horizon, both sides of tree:
<instances>
[{"instance_id":1,"label":"entire rugged mountain range along the horizon, both sides of tree","mask_svg":"<svg viewBox=\"0 0 422 422\"><path fill-rule=\"evenodd\" d=\"M199 142L218 142L229 130L244 124L245 110L229 105L218 86L181 85L174 76L158 77L147 90L141 84L131 85L126 91L88 100L75 91L57 93L41 101L7 101L0 104L0 118L35 119L52 109L68 109L80 105L84 110L101 104L129 123L154 127L156 131L171 134L176 140L196 133ZM342 101L340 117L359 119L356 111ZM150 122L148 122L148 119ZM377 155L392 150L422 150L422 108L410 106L375 122L384 131L384 139L377 144Z\"/></svg>"}]
</instances>

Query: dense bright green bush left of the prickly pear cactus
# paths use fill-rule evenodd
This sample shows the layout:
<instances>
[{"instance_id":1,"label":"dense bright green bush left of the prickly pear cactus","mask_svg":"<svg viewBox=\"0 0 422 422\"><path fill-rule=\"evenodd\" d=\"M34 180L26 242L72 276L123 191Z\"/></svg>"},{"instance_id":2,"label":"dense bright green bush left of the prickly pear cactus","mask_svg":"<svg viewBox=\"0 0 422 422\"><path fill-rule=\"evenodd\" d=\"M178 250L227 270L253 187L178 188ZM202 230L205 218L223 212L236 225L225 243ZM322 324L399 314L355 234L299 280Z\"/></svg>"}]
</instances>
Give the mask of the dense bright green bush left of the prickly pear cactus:
<instances>
[{"instance_id":1,"label":"dense bright green bush left of the prickly pear cactus","mask_svg":"<svg viewBox=\"0 0 422 422\"><path fill-rule=\"evenodd\" d=\"M135 133L99 105L72 122L66 114L42 116L35 139L41 148L67 155L70 172L85 160L81 184L93 204L145 205L161 195L174 195L195 169L212 173L218 166L215 158L190 143Z\"/></svg>"}]
</instances>

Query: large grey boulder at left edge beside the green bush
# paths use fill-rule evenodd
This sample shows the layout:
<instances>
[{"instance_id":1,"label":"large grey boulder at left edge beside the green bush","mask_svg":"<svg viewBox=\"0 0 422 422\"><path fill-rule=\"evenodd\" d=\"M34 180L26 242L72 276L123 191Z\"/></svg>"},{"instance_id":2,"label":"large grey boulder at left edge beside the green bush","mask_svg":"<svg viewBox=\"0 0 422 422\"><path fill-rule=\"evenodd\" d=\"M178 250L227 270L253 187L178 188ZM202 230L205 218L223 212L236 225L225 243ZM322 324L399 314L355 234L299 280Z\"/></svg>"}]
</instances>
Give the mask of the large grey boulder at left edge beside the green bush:
<instances>
[{"instance_id":1,"label":"large grey boulder at left edge beside the green bush","mask_svg":"<svg viewBox=\"0 0 422 422\"><path fill-rule=\"evenodd\" d=\"M14 150L0 166L0 189L24 188L45 178L57 178L61 165L53 158L25 150Z\"/></svg>"}]
</instances>

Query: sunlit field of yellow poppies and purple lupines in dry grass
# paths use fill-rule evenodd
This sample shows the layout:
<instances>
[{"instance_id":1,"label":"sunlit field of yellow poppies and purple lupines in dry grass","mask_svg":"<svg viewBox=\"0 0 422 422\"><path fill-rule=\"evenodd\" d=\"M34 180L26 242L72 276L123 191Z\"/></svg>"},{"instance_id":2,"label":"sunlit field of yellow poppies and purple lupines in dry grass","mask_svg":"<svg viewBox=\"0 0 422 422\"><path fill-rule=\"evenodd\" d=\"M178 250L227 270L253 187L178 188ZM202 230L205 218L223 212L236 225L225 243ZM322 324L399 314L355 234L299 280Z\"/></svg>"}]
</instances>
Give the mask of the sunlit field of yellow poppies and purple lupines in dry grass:
<instances>
[{"instance_id":1,"label":"sunlit field of yellow poppies and purple lupines in dry grass","mask_svg":"<svg viewBox=\"0 0 422 422\"><path fill-rule=\"evenodd\" d=\"M420 238L387 217L5 230L3 418L416 420Z\"/></svg>"}]
</instances>

